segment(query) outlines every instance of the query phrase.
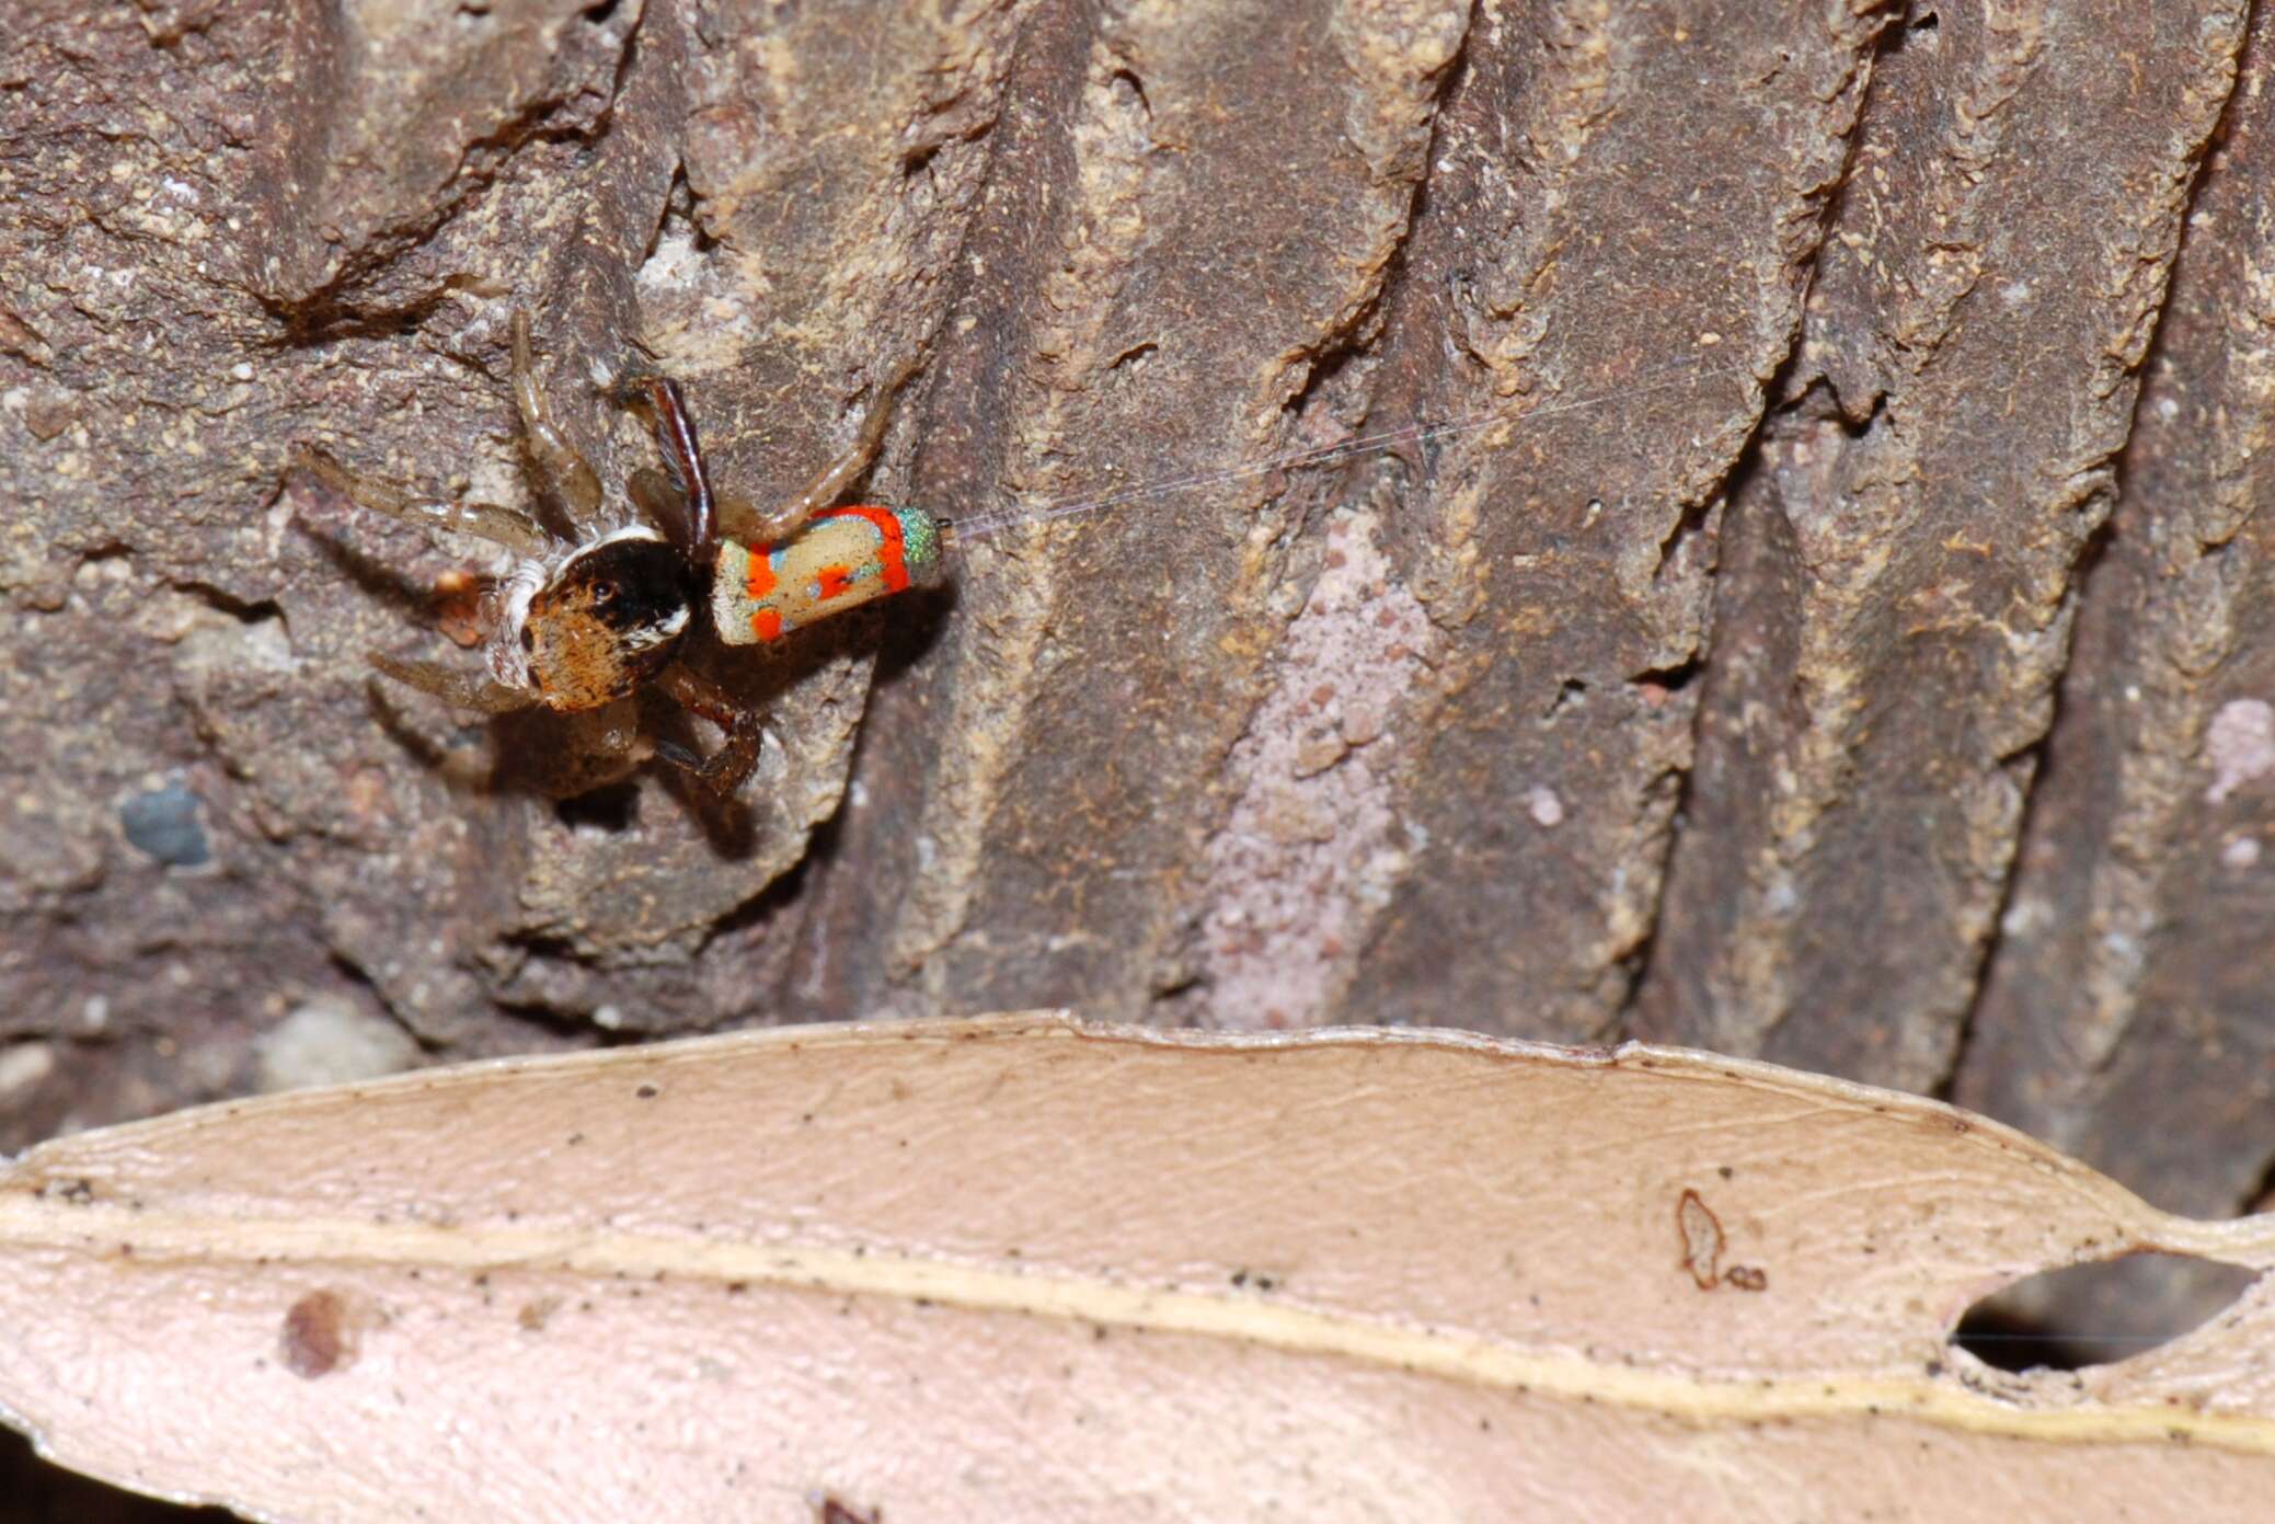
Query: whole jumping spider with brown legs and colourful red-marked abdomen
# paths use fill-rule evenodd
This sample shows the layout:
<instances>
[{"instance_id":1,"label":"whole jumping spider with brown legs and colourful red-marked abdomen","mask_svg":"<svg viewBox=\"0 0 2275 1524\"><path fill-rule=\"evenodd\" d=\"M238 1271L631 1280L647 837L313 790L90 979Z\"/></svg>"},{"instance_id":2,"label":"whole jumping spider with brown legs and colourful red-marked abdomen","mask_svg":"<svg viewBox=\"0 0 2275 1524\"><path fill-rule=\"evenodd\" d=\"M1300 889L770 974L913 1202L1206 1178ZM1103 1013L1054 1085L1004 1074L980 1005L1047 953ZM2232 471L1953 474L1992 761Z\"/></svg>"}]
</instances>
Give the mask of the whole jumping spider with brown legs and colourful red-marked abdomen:
<instances>
[{"instance_id":1,"label":"whole jumping spider with brown legs and colourful red-marked abdomen","mask_svg":"<svg viewBox=\"0 0 2275 1524\"><path fill-rule=\"evenodd\" d=\"M371 662L398 682L489 714L532 705L557 712L598 710L655 685L726 732L723 746L703 760L669 742L660 742L657 751L703 782L733 792L758 762L760 721L735 707L714 682L678 657L694 628L703 623L705 610L730 607L742 614L751 598L762 598L755 591L755 580L739 571L753 562L753 555L760 564L774 564L803 546L805 523L828 510L869 469L885 439L892 391L910 375L912 366L903 366L880 387L853 446L824 466L801 494L771 512L712 494L694 423L673 382L660 375L619 380L612 396L648 414L671 473L635 471L626 482L628 505L617 505L617 512L610 512L598 473L578 455L546 409L530 357L530 323L523 312L514 312L512 341L514 403L521 412L530 466L539 491L564 512L573 535L557 535L535 516L494 503L419 500L346 471L321 450L303 450L300 455L312 473L350 496L359 507L407 523L475 535L512 555L510 566L491 580L482 596L487 673L437 662L405 662L384 653L373 653ZM755 628L774 632L785 628L783 616L771 612L771 603L787 607L792 619L812 619L878 591L908 587L912 566L930 571L937 564L944 525L915 510L858 512L887 519L887 525L876 530L878 548L867 553L876 573L862 575L858 562L864 553L855 544L858 532L844 525L819 525L817 537L833 535L833 546L819 560L830 562L824 571L835 573L835 580L824 575L814 587L785 589L780 598L767 601L769 610L751 616ZM737 541L739 557L737 589L728 589L728 594L714 587L721 537ZM908 555L910 537L924 548L921 557ZM839 553L835 541L846 541L851 550ZM817 560L817 555L808 550L805 560ZM769 616L771 626L767 626ZM730 644L753 639L744 626L723 635Z\"/></svg>"}]
</instances>

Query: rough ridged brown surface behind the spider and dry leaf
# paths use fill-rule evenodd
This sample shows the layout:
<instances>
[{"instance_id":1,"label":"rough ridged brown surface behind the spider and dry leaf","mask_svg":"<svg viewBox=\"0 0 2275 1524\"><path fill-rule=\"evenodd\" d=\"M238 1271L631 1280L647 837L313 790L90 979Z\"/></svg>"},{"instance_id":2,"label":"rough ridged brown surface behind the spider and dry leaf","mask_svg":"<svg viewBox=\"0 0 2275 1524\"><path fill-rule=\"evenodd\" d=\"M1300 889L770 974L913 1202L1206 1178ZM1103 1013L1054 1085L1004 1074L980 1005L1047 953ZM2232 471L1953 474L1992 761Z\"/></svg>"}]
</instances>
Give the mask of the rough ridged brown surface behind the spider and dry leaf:
<instances>
[{"instance_id":1,"label":"rough ridged brown surface behind the spider and dry leaf","mask_svg":"<svg viewBox=\"0 0 2275 1524\"><path fill-rule=\"evenodd\" d=\"M243 1090L307 1012L480 1055L1065 1003L1761 1053L2241 1210L2270 27L18 0L0 1144ZM482 560L289 450L530 500L514 305L607 482L653 453L596 364L764 500L921 355L869 494L1010 519L714 655L771 714L735 807L592 762L708 739L669 705L373 680L473 664Z\"/></svg>"}]
</instances>

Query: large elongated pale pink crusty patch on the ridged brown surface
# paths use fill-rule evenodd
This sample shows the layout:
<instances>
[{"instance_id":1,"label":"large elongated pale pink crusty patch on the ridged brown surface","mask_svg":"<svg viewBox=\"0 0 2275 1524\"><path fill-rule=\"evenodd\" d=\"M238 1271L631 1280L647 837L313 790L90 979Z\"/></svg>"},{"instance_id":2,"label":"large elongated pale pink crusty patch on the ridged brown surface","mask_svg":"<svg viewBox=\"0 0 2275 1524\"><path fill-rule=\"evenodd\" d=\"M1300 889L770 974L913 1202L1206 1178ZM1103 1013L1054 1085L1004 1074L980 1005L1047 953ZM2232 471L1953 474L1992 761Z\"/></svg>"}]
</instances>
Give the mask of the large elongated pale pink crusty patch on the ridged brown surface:
<instances>
[{"instance_id":1,"label":"large elongated pale pink crusty patch on the ridged brown surface","mask_svg":"<svg viewBox=\"0 0 2275 1524\"><path fill-rule=\"evenodd\" d=\"M1226 762L1244 787L1201 892L1197 1014L1213 1026L1317 1024L1408 869L1390 771L1433 630L1376 548L1372 514L1338 516L1326 535L1272 694Z\"/></svg>"}]
</instances>

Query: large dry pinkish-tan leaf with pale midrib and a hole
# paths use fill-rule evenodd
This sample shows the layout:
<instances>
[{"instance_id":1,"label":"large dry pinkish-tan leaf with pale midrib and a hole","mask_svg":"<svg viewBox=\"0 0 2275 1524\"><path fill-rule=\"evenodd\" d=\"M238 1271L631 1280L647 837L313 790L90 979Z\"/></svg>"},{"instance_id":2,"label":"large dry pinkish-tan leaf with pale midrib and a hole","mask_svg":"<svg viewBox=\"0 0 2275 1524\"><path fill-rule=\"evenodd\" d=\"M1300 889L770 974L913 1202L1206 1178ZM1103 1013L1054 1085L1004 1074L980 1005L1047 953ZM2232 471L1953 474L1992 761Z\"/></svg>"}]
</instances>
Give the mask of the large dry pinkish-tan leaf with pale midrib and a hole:
<instances>
[{"instance_id":1,"label":"large dry pinkish-tan leaf with pale midrib and a hole","mask_svg":"<svg viewBox=\"0 0 2275 1524\"><path fill-rule=\"evenodd\" d=\"M801 1028L34 1149L0 1403L271 1519L2264 1517L2275 1278L2120 1365L1947 1342L2138 1249L2275 1221L1670 1049Z\"/></svg>"}]
</instances>

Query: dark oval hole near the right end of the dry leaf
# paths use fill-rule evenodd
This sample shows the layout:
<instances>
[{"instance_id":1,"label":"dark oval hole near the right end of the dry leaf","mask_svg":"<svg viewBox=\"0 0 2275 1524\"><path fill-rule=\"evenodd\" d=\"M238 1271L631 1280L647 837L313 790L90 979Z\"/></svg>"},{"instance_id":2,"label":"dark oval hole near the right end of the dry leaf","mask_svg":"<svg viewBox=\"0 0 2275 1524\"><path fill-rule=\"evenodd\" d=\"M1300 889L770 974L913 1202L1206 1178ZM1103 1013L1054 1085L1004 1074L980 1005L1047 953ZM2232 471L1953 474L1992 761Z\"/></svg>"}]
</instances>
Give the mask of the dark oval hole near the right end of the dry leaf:
<instances>
[{"instance_id":1,"label":"dark oval hole near the right end of the dry leaf","mask_svg":"<svg viewBox=\"0 0 2275 1524\"><path fill-rule=\"evenodd\" d=\"M2184 1253L2048 1269L1968 1308L1952 1344L2002 1372L2113 1365L2204 1326L2255 1278Z\"/></svg>"}]
</instances>

